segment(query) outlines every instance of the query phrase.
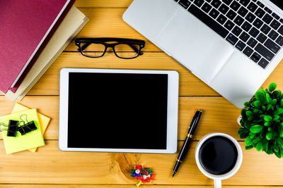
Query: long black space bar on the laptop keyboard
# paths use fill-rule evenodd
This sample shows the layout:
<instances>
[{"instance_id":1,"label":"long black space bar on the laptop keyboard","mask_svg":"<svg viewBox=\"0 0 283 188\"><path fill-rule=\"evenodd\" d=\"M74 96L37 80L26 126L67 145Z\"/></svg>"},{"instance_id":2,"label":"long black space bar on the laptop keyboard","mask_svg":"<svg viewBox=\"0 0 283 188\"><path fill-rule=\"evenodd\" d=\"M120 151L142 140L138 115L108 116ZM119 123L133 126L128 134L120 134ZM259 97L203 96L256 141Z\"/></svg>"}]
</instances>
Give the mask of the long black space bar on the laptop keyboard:
<instances>
[{"instance_id":1,"label":"long black space bar on the laptop keyboard","mask_svg":"<svg viewBox=\"0 0 283 188\"><path fill-rule=\"evenodd\" d=\"M226 38L226 36L229 34L229 31L226 30L222 25L217 23L214 19L210 18L209 15L202 12L199 8L197 8L195 5L191 5L187 11L192 13L192 15L195 15L198 19L200 19L204 24L206 24L208 27L210 27L214 32L216 32L218 35L220 35L223 38Z\"/></svg>"}]
</instances>

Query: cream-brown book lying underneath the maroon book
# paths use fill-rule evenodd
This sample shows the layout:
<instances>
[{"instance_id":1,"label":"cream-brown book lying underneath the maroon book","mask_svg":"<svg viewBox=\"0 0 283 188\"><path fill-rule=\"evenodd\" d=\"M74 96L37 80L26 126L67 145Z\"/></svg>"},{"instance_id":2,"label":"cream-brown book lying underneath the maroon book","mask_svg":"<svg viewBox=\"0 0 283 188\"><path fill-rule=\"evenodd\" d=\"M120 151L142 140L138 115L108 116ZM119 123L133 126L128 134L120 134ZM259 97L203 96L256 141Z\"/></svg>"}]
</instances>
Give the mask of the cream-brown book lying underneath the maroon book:
<instances>
[{"instance_id":1,"label":"cream-brown book lying underneath the maroon book","mask_svg":"<svg viewBox=\"0 0 283 188\"><path fill-rule=\"evenodd\" d=\"M18 90L13 93L10 90L5 94L11 101L21 100L33 85L42 77L52 63L58 58L62 51L68 46L72 39L79 33L88 22L78 8L72 7L66 17L59 25L56 32L41 52L33 68L30 69Z\"/></svg>"}]
</instances>

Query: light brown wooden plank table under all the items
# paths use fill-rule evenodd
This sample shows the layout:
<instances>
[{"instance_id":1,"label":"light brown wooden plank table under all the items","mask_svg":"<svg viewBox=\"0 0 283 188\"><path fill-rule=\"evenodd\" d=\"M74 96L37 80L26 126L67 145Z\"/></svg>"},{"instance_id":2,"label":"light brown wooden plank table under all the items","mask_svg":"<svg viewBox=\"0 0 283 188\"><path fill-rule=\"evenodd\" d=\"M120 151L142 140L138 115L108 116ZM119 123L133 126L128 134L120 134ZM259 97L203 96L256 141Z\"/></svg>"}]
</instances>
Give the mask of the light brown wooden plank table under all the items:
<instances>
[{"instance_id":1,"label":"light brown wooden plank table under all the items","mask_svg":"<svg viewBox=\"0 0 283 188\"><path fill-rule=\"evenodd\" d=\"M76 6L89 18L77 37L125 37L145 39L122 21L132 0L77 0ZM146 10L145 12L146 13ZM146 39L145 39L146 40ZM195 164L195 146L209 132L224 132L238 139L243 149L243 165L236 175L224 180L224 187L277 187L283 185L283 161L263 152L244 150L236 118L240 109L219 96L197 77L146 40L139 58L122 60L107 53L103 58L86 58L76 51L74 41L25 96L22 104L37 108L52 121L45 132L46 146L36 153L22 151L6 155L0 141L0 187L135 187L130 169L140 162L152 167L156 180L142 187L212 187ZM62 152L58 149L59 70L61 68L126 68L178 70L180 73L178 151L185 139L188 123L197 108L204 110L188 156L173 179L177 154ZM277 82L283 89L283 63L279 64L263 87ZM11 113L13 103L0 96L0 115ZM145 130L146 132L146 130ZM141 132L142 133L142 132ZM283 187L283 186L282 186Z\"/></svg>"}]
</instances>

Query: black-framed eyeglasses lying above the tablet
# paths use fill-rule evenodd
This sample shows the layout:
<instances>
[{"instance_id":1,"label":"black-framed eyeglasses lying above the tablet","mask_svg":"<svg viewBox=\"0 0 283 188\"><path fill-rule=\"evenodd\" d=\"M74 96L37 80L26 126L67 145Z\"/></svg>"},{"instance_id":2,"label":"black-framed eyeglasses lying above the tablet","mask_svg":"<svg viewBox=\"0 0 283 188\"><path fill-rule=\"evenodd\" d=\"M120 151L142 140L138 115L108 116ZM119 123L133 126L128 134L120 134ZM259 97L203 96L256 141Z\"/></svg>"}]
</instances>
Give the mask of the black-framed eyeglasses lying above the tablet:
<instances>
[{"instance_id":1,"label":"black-framed eyeglasses lying above the tablet","mask_svg":"<svg viewBox=\"0 0 283 188\"><path fill-rule=\"evenodd\" d=\"M79 51L88 58L100 58L104 56L108 48L112 48L118 58L137 58L142 55L141 49L146 42L138 39L121 38L76 38L75 44Z\"/></svg>"}]
</instances>

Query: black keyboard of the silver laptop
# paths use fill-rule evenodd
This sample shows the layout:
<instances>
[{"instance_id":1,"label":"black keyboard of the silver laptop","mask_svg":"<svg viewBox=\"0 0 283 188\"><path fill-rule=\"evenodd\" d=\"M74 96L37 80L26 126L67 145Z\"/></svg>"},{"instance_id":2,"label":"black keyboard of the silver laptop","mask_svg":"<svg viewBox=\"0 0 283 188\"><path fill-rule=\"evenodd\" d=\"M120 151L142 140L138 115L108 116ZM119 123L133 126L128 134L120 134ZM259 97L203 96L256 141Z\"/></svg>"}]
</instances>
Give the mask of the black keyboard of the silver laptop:
<instances>
[{"instance_id":1,"label":"black keyboard of the silver laptop","mask_svg":"<svg viewBox=\"0 0 283 188\"><path fill-rule=\"evenodd\" d=\"M283 19L257 0L174 0L266 68L283 46Z\"/></svg>"}]
</instances>

